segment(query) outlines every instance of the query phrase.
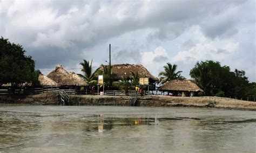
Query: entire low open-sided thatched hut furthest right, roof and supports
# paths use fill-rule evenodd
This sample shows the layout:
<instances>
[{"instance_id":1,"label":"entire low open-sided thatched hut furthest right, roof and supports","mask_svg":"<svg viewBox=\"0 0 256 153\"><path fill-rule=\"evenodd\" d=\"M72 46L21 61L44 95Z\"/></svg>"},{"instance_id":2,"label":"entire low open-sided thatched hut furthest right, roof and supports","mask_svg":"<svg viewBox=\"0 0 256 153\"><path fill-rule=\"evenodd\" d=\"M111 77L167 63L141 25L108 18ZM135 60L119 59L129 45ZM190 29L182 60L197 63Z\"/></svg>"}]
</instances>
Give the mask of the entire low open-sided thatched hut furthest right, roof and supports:
<instances>
[{"instance_id":1,"label":"entire low open-sided thatched hut furthest right, roof and supports","mask_svg":"<svg viewBox=\"0 0 256 153\"><path fill-rule=\"evenodd\" d=\"M174 95L180 93L181 96L194 96L194 94L197 94L198 92L204 92L191 80L171 80L166 82L158 90L162 92L171 92Z\"/></svg>"}]
</instances>

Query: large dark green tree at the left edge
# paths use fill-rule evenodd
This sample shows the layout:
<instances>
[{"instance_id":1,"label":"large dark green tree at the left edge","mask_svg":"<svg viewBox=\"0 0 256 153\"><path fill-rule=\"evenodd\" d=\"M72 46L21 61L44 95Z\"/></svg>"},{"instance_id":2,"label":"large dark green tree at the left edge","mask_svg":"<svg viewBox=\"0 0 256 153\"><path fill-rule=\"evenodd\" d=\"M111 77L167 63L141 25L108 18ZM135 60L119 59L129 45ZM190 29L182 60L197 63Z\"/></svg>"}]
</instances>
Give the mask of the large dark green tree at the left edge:
<instances>
[{"instance_id":1,"label":"large dark green tree at the left edge","mask_svg":"<svg viewBox=\"0 0 256 153\"><path fill-rule=\"evenodd\" d=\"M0 85L11 83L13 86L38 82L38 71L35 71L35 61L25 55L25 50L19 44L10 43L8 39L0 39Z\"/></svg>"}]
</instances>

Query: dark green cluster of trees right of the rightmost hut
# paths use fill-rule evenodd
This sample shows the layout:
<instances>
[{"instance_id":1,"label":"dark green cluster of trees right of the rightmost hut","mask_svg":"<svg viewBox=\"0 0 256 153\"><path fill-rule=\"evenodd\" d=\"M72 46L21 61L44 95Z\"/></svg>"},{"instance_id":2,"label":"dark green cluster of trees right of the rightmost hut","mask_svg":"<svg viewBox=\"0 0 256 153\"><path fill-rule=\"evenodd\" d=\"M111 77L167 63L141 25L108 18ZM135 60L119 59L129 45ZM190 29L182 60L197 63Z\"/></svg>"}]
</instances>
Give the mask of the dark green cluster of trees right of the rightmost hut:
<instances>
[{"instance_id":1,"label":"dark green cluster of trees right of the rightmost hut","mask_svg":"<svg viewBox=\"0 0 256 153\"><path fill-rule=\"evenodd\" d=\"M197 62L190 76L204 90L204 95L256 99L256 83L248 81L245 71L235 69L232 72L229 66L221 66L218 61Z\"/></svg>"}]
</instances>

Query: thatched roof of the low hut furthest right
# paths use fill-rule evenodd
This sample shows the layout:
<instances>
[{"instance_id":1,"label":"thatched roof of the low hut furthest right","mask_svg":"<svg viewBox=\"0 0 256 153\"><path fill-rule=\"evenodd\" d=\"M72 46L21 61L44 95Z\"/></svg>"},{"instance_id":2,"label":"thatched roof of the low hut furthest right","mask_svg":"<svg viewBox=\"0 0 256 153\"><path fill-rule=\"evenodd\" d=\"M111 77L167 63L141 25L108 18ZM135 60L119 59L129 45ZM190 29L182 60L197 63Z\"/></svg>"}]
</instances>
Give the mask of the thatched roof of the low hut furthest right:
<instances>
[{"instance_id":1,"label":"thatched roof of the low hut furthest right","mask_svg":"<svg viewBox=\"0 0 256 153\"><path fill-rule=\"evenodd\" d=\"M159 91L188 91L188 92L204 92L191 80L171 80L161 86Z\"/></svg>"}]
</instances>

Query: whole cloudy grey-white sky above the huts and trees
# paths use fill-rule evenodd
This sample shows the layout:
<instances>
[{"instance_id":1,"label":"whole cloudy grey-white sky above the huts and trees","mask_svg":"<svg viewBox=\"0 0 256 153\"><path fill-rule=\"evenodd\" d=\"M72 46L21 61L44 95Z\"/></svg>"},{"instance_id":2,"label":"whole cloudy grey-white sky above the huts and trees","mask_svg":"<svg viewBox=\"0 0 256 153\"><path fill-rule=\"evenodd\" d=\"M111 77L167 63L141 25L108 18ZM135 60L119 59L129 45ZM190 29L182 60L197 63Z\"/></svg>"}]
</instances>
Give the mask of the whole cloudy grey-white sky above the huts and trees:
<instances>
[{"instance_id":1,"label":"whole cloudy grey-white sky above the huts and trees","mask_svg":"<svg viewBox=\"0 0 256 153\"><path fill-rule=\"evenodd\" d=\"M220 61L256 81L255 1L5 1L0 35L23 45L44 74L57 64L143 64L158 75L166 62L190 78L201 60Z\"/></svg>"}]
</instances>

